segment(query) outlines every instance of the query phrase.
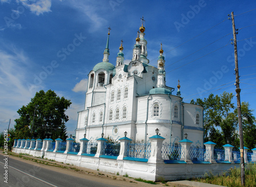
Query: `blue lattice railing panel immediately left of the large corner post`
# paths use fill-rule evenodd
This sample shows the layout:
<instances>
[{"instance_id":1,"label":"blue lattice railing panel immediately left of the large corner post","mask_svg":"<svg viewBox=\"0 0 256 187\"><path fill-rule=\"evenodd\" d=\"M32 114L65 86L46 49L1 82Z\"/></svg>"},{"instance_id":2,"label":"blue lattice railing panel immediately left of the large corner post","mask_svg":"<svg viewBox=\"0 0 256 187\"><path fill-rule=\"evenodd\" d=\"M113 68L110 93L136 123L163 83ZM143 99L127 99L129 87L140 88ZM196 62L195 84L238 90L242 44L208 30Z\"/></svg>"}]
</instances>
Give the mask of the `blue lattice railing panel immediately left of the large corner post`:
<instances>
[{"instance_id":1,"label":"blue lattice railing panel immediately left of the large corner post","mask_svg":"<svg viewBox=\"0 0 256 187\"><path fill-rule=\"evenodd\" d=\"M151 144L128 144L127 156L135 158L150 158Z\"/></svg>"}]
</instances>

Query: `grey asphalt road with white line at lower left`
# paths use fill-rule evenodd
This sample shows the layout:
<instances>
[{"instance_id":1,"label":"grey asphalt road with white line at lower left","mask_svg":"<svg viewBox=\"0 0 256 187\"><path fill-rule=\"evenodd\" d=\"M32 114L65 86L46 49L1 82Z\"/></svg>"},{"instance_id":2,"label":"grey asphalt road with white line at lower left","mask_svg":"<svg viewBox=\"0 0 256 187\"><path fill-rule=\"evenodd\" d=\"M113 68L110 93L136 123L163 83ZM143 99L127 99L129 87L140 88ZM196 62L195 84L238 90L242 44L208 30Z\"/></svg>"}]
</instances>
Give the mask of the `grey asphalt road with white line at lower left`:
<instances>
[{"instance_id":1,"label":"grey asphalt road with white line at lower left","mask_svg":"<svg viewBox=\"0 0 256 187\"><path fill-rule=\"evenodd\" d=\"M64 173L52 171L40 167L39 165L32 165L25 162L18 161L17 159L4 159L8 156L0 155L0 186L90 186L90 187L101 187L101 186L116 186L115 184L105 184L99 181L88 180L80 177L67 175ZM8 161L8 162L6 162ZM8 163L8 168L7 164ZM8 170L6 172L5 170ZM7 173L7 174L6 174ZM4 178L8 175L8 183Z\"/></svg>"}]
</instances>

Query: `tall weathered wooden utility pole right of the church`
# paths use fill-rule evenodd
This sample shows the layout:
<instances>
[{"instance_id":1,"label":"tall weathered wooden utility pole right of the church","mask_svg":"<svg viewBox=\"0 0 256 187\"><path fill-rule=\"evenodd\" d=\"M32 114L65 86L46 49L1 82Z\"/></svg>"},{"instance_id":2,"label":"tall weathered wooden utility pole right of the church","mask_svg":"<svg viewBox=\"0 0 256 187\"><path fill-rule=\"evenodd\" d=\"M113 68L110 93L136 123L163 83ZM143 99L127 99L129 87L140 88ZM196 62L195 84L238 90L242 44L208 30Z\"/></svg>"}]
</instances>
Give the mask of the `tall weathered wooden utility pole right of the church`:
<instances>
[{"instance_id":1,"label":"tall weathered wooden utility pole right of the church","mask_svg":"<svg viewBox=\"0 0 256 187\"><path fill-rule=\"evenodd\" d=\"M232 27L233 27L233 37L234 37L234 65L236 71L236 92L237 92L237 103L238 103L238 125L239 125L239 138L240 138L240 165L241 165L241 184L245 185L245 172L244 172L244 136L243 136L243 125L242 125L242 116L241 116L241 101L240 101L240 92L239 88L239 73L238 73L238 50L237 50L237 30L234 25L234 12L231 12L232 18Z\"/></svg>"}]
</instances>

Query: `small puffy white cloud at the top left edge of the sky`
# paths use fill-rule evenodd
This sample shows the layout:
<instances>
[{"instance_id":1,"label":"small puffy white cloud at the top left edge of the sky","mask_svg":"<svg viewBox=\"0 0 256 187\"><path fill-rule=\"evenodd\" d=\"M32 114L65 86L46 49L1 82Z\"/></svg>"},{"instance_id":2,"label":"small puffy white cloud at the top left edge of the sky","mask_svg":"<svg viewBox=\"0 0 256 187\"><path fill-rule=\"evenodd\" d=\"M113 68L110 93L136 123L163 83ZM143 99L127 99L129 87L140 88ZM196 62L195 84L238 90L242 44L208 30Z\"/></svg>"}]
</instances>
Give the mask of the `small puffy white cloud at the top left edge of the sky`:
<instances>
[{"instance_id":1,"label":"small puffy white cloud at the top left edge of the sky","mask_svg":"<svg viewBox=\"0 0 256 187\"><path fill-rule=\"evenodd\" d=\"M22 3L23 6L29 8L30 11L35 13L37 16L40 14L44 14L45 12L51 12L51 0L18 0L18 2Z\"/></svg>"}]
</instances>

